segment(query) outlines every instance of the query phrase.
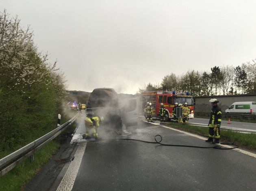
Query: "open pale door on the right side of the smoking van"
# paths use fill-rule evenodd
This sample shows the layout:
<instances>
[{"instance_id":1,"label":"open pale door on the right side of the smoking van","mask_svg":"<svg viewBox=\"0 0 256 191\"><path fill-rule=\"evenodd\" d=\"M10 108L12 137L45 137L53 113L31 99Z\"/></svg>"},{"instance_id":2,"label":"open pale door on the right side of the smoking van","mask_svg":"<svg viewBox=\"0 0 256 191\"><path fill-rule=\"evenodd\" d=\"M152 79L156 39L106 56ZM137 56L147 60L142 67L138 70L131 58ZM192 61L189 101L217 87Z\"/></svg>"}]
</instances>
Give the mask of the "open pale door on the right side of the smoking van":
<instances>
[{"instance_id":1,"label":"open pale door on the right side of the smoking van","mask_svg":"<svg viewBox=\"0 0 256 191\"><path fill-rule=\"evenodd\" d=\"M121 108L122 125L125 127L136 129L138 126L138 100L136 98L130 100L119 100ZM127 130L127 129L126 129Z\"/></svg>"}]
</instances>

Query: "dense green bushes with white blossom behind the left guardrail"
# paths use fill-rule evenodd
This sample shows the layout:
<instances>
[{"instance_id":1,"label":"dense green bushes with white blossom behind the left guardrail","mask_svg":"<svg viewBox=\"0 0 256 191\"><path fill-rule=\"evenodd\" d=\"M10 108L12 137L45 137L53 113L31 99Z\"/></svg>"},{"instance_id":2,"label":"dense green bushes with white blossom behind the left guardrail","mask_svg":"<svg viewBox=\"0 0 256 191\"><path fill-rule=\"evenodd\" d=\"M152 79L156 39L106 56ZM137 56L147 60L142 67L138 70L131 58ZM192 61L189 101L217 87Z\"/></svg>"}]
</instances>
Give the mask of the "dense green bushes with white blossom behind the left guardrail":
<instances>
[{"instance_id":1,"label":"dense green bushes with white blossom behind the left guardrail","mask_svg":"<svg viewBox=\"0 0 256 191\"><path fill-rule=\"evenodd\" d=\"M30 28L0 12L0 151L56 128L66 96L64 73L33 43Z\"/></svg>"}]
</instances>

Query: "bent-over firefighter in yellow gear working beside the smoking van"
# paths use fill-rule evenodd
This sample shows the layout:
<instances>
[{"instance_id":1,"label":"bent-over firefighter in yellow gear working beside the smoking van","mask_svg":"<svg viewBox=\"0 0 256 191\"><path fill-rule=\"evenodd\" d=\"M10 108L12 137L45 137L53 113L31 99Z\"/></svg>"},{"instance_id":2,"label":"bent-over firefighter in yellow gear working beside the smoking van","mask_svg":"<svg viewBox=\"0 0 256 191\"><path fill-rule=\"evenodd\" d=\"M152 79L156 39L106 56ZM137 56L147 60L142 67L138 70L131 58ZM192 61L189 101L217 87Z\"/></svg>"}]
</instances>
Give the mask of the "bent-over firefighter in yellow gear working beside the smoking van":
<instances>
[{"instance_id":1,"label":"bent-over firefighter in yellow gear working beside the smoking van","mask_svg":"<svg viewBox=\"0 0 256 191\"><path fill-rule=\"evenodd\" d=\"M104 120L104 117L93 117L93 112L88 112L85 118L85 139L90 139L91 134L95 139L98 139L97 129L100 126L100 122Z\"/></svg>"}]
</instances>

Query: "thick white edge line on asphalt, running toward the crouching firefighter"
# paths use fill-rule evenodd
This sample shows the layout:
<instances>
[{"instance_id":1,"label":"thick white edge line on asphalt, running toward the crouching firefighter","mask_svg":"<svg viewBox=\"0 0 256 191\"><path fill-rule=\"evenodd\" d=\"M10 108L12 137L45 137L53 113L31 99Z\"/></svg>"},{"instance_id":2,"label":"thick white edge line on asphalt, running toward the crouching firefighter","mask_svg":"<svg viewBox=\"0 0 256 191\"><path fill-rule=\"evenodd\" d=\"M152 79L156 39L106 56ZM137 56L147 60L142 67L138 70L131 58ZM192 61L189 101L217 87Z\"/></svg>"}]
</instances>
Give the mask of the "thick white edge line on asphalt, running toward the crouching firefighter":
<instances>
[{"instance_id":1,"label":"thick white edge line on asphalt, running toward the crouching firefighter","mask_svg":"<svg viewBox=\"0 0 256 191\"><path fill-rule=\"evenodd\" d=\"M87 145L87 142L79 143L79 146L74 155L74 160L70 162L67 172L63 176L61 183L59 184L56 191L71 191L72 190L72 188L74 186L74 182L76 180L76 175L78 173L78 170L79 170L79 167L80 167L80 164L82 161L82 156L85 153L86 145Z\"/></svg>"}]
</instances>

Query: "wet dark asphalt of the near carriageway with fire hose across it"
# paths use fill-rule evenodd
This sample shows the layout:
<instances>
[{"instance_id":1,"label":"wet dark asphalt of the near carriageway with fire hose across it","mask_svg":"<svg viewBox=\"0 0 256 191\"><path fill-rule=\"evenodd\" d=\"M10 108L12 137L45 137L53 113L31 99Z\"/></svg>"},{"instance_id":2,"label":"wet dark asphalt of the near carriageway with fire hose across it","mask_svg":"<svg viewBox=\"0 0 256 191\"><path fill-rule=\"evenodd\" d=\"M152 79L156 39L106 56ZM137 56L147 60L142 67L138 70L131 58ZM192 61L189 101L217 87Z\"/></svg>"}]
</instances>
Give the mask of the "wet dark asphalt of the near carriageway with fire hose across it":
<instances>
[{"instance_id":1,"label":"wet dark asphalt of the near carriageway with fire hose across it","mask_svg":"<svg viewBox=\"0 0 256 191\"><path fill-rule=\"evenodd\" d=\"M85 140L81 119L68 152L61 155L70 160L46 166L25 190L256 190L255 153L225 145L220 145L223 150L189 147L214 144L143 118L137 129L128 131L126 136L101 134L101 140ZM176 146L157 144L156 135L162 136L161 143Z\"/></svg>"}]
</instances>

